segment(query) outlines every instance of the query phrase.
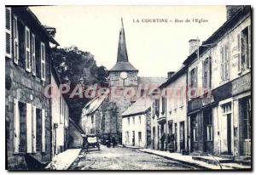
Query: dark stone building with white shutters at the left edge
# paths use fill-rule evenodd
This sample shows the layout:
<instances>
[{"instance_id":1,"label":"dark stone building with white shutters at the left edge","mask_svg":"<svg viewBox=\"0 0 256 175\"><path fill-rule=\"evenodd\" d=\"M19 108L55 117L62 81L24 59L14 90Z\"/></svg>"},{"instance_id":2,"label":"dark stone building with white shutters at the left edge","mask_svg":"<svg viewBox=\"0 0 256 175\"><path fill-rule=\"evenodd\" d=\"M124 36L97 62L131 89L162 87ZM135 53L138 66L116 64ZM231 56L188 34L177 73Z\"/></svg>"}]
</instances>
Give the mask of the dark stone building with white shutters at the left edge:
<instances>
[{"instance_id":1,"label":"dark stone building with white shutters at the left edge","mask_svg":"<svg viewBox=\"0 0 256 175\"><path fill-rule=\"evenodd\" d=\"M50 46L58 45L27 7L6 7L5 118L9 170L26 169L25 155L51 160Z\"/></svg>"}]
</instances>

